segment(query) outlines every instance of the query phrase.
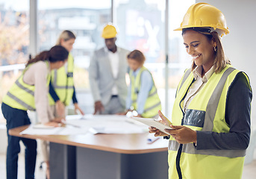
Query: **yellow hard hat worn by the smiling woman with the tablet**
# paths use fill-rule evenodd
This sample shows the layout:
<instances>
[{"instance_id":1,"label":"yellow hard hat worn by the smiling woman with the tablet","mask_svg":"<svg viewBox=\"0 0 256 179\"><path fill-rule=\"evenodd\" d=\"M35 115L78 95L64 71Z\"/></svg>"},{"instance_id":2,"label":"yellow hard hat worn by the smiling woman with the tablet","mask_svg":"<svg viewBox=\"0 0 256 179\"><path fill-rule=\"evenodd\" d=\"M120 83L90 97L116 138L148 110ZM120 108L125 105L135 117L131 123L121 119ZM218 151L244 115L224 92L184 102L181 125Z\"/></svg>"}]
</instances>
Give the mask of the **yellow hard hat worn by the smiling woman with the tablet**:
<instances>
[{"instance_id":1,"label":"yellow hard hat worn by the smiling woman with the tablet","mask_svg":"<svg viewBox=\"0 0 256 179\"><path fill-rule=\"evenodd\" d=\"M210 28L211 31L217 31L220 37L229 33L222 11L203 2L191 5L181 22L181 27L174 31L182 31L184 28Z\"/></svg>"}]
</instances>

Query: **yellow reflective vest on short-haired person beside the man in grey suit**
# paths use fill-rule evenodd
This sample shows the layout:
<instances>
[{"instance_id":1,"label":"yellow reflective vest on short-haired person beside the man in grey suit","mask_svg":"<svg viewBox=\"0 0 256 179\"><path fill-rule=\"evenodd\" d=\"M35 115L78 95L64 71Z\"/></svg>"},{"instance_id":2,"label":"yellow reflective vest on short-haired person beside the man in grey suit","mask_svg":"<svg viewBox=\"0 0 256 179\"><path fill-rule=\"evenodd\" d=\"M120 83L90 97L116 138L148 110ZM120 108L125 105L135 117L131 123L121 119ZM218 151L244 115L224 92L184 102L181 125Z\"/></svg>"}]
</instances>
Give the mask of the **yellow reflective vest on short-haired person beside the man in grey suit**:
<instances>
[{"instance_id":1,"label":"yellow reflective vest on short-haired person beside the man in grey suit","mask_svg":"<svg viewBox=\"0 0 256 179\"><path fill-rule=\"evenodd\" d=\"M140 92L140 77L143 71L148 70L144 66L140 69L140 72L138 72L136 78L134 78L134 75L132 75L132 71L129 72L130 79L131 79L131 100L132 100L132 107L134 107L134 110L137 110L137 95ZM148 70L149 71L149 70ZM150 72L149 72L150 73ZM150 73L151 75L151 73ZM153 81L153 78L152 78ZM149 96L146 99L146 103L144 105L144 110L141 116L145 118L152 118L154 116L157 116L158 110L161 110L161 103L160 98L157 94L157 88L154 85L152 90L149 91Z\"/></svg>"}]
</instances>

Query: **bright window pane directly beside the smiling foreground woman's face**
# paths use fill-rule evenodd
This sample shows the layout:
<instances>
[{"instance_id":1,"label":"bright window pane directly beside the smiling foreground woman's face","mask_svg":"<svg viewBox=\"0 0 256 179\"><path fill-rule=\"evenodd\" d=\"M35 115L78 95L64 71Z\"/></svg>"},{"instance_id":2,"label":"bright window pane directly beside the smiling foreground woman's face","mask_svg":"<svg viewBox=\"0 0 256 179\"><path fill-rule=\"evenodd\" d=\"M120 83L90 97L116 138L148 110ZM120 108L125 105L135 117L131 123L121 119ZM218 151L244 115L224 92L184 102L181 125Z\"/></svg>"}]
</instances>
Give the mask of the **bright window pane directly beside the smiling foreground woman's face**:
<instances>
[{"instance_id":1,"label":"bright window pane directly beside the smiling foreground woman's face","mask_svg":"<svg viewBox=\"0 0 256 179\"><path fill-rule=\"evenodd\" d=\"M168 116L172 114L172 106L175 100L175 92L178 82L181 80L184 70L190 68L192 58L187 54L183 44L181 31L173 31L181 26L181 22L187 9L195 0L169 1L169 98Z\"/></svg>"}]
</instances>

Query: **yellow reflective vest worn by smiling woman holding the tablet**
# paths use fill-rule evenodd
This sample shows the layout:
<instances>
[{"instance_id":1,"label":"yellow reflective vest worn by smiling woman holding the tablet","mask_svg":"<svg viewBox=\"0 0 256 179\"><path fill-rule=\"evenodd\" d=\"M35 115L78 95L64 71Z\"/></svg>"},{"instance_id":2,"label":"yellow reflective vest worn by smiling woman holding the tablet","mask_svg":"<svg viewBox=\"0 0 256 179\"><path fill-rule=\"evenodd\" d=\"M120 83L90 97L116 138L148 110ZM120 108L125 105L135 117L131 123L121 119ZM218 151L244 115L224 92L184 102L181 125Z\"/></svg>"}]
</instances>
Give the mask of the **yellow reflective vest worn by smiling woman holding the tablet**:
<instances>
[{"instance_id":1,"label":"yellow reflective vest worn by smiling woman holding the tablet","mask_svg":"<svg viewBox=\"0 0 256 179\"><path fill-rule=\"evenodd\" d=\"M184 125L196 131L228 133L229 126L225 122L226 98L238 73L242 73L249 84L245 73L228 65L222 72L211 75L184 113L184 98L194 81L191 69L187 70L176 92L172 124ZM169 178L179 178L178 175L183 179L241 178L245 155L246 150L196 150L193 143L179 144L171 136Z\"/></svg>"}]
</instances>

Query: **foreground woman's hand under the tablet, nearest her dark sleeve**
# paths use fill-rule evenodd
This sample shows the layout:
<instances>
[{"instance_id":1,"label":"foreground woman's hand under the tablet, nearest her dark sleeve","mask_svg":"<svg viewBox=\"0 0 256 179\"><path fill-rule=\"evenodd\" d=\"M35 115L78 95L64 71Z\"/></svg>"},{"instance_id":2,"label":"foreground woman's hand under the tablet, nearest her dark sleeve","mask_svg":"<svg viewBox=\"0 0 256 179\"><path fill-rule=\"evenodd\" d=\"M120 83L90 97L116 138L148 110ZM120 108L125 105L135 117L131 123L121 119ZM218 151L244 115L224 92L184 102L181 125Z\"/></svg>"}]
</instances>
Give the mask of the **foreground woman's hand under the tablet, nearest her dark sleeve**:
<instances>
[{"instance_id":1,"label":"foreground woman's hand under the tablet, nearest her dark sleeve","mask_svg":"<svg viewBox=\"0 0 256 179\"><path fill-rule=\"evenodd\" d=\"M178 143L186 144L190 142L196 142L196 131L187 128L183 125L171 125L171 128L165 129L166 133L170 134Z\"/></svg>"}]
</instances>

